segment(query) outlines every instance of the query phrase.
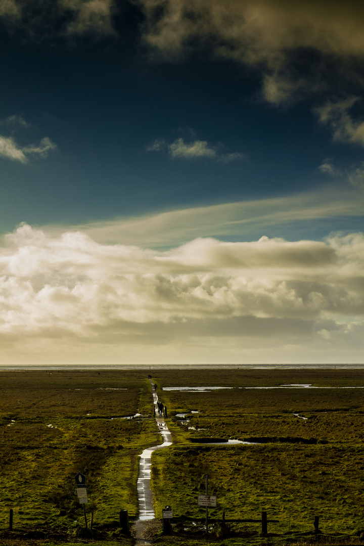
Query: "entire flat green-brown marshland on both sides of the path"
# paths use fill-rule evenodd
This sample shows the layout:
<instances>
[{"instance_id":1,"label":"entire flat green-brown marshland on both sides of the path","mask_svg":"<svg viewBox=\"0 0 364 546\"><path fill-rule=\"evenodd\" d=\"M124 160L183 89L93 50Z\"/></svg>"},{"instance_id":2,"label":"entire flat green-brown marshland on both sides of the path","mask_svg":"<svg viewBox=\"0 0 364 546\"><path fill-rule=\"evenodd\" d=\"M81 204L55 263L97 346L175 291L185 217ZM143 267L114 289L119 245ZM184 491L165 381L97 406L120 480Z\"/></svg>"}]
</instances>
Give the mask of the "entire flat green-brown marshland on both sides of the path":
<instances>
[{"instance_id":1,"label":"entire flat green-brown marshland on both sides of the path","mask_svg":"<svg viewBox=\"0 0 364 546\"><path fill-rule=\"evenodd\" d=\"M94 512L94 528L109 529L109 539L129 544L117 531L118 512L138 514L138 455L162 442L152 417L147 374L1 372L3 532L13 508L14 532L58 529L76 536L83 509L74 476L81 471L87 477L86 508L88 518ZM212 518L221 518L225 511L227 519L259 519L266 511L268 519L279 520L268 524L268 532L281 539L288 531L295 534L287 539L313 532L315 515L325 534L359 537L364 531L364 389L356 388L364 387L363 371L151 374L159 400L167 406L166 424L174 441L152 454L157 518L165 505L176 516L203 518L205 511L196 500L205 492L208 474L209 494L218 499L217 508L209 511ZM277 388L293 383L321 388ZM164 390L170 387L224 388ZM180 413L186 416L176 417ZM211 437L253 443L204 443ZM229 525L240 535L224 538L226 544L240 544L241 533L262 541L259 524ZM202 538L188 537L186 526L177 524L174 537L157 540L161 545L197 544Z\"/></svg>"}]
</instances>

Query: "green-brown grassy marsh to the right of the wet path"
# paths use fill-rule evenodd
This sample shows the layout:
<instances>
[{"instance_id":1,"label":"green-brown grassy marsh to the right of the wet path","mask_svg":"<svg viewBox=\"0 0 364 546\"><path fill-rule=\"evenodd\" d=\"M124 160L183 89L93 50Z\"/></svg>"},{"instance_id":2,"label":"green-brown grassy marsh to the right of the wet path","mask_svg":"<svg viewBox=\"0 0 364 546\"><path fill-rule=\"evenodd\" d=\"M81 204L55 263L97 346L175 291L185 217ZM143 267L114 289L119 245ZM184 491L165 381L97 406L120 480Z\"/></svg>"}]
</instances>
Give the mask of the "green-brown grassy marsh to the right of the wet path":
<instances>
[{"instance_id":1,"label":"green-brown grassy marsh to the right of the wet path","mask_svg":"<svg viewBox=\"0 0 364 546\"><path fill-rule=\"evenodd\" d=\"M156 508L171 504L176 515L204 517L196 497L218 497L211 517L259 518L262 511L279 524L276 533L313 531L314 516L328 533L364 529L364 385L362 371L195 370L165 372L156 378L168 408L174 446L152 455ZM290 383L345 389L245 389ZM175 386L226 386L209 392L165 391ZM351 388L350 388L351 387ZM189 413L182 424L175 413ZM299 413L296 417L294 413ZM306 417L306 419L302 419ZM189 430L193 427L196 430ZM236 438L256 445L210 446L201 437ZM256 524L236 529L259 530Z\"/></svg>"}]
</instances>

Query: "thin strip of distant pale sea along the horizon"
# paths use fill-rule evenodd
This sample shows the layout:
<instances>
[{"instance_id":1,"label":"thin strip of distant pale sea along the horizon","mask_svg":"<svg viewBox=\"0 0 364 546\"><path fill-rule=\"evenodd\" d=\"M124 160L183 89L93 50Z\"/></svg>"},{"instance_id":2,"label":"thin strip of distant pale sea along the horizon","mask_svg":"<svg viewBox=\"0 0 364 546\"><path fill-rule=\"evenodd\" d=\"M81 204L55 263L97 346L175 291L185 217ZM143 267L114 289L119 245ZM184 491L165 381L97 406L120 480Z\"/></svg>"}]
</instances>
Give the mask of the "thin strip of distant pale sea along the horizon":
<instances>
[{"instance_id":1,"label":"thin strip of distant pale sea along the horizon","mask_svg":"<svg viewBox=\"0 0 364 546\"><path fill-rule=\"evenodd\" d=\"M364 364L3 364L0 371L21 370L345 370Z\"/></svg>"}]
</instances>

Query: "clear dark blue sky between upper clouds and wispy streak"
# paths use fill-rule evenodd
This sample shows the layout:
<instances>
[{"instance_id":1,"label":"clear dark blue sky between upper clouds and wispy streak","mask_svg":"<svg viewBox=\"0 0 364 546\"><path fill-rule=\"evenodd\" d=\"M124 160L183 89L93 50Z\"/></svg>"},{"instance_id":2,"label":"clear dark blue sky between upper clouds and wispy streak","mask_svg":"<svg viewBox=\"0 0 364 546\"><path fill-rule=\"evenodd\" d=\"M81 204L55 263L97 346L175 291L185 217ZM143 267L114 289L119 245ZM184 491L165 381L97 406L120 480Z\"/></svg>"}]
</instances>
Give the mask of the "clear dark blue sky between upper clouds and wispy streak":
<instances>
[{"instance_id":1,"label":"clear dark blue sky between upper clouds and wispy streak","mask_svg":"<svg viewBox=\"0 0 364 546\"><path fill-rule=\"evenodd\" d=\"M141 20L129 8L111 37L32 38L3 26L0 119L21 116L27 126L5 122L0 134L18 147L46 136L57 150L27 163L0 157L2 232L22 221L79 224L350 187L318 169L332 158L344 172L363 158L360 143L333 142L319 124L313 108L325 92L272 104L259 66L206 48L151 58ZM147 151L156 139L164 146ZM204 141L215 156L172 157L178 139ZM241 156L224 159L233 153Z\"/></svg>"}]
</instances>

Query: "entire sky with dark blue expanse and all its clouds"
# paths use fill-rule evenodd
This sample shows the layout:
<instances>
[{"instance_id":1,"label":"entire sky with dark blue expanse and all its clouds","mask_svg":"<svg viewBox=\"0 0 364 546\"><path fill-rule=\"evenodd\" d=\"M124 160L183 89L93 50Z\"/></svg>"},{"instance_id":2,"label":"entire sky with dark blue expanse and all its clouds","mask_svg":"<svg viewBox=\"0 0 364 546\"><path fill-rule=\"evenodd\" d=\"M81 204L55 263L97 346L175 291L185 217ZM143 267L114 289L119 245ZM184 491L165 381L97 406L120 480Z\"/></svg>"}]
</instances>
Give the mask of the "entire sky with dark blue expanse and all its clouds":
<instances>
[{"instance_id":1,"label":"entire sky with dark blue expanse and all its clouds","mask_svg":"<svg viewBox=\"0 0 364 546\"><path fill-rule=\"evenodd\" d=\"M362 11L356 2L8 0L4 363L362 361ZM274 249L264 265L243 259L259 240ZM103 253L120 260L125 286L102 269ZM162 295L159 282L169 286ZM106 302L86 303L80 293L101 284ZM77 324L66 325L65 306ZM236 327L249 320L260 334ZM219 341L231 321L234 335ZM305 327L290 334L287 321Z\"/></svg>"}]
</instances>

